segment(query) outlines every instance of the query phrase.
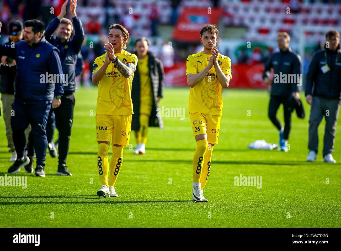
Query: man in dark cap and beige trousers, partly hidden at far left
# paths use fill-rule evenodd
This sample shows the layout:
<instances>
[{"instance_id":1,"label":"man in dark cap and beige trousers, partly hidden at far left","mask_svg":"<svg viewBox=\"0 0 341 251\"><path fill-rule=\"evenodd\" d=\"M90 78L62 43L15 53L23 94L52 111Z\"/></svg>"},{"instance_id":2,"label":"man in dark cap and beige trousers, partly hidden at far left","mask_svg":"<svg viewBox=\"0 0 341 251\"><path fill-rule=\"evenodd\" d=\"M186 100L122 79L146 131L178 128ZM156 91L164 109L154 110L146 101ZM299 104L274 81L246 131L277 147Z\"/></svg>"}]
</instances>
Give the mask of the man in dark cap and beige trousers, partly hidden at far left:
<instances>
[{"instance_id":1,"label":"man in dark cap and beige trousers, partly hidden at far left","mask_svg":"<svg viewBox=\"0 0 341 251\"><path fill-rule=\"evenodd\" d=\"M23 23L19 20L12 21L9 25L9 40L8 45L12 45L14 43L19 42L23 39L24 27ZM2 100L2 109L3 109L3 119L5 121L6 126L6 137L8 141L8 148L12 152L12 157L10 158L10 162L14 162L17 159L17 153L15 151L13 138L12 138L12 128L11 128L11 110L12 103L14 101L14 79L16 75L16 67L15 60L13 58L7 56L1 56L1 62L3 64L14 65L10 72L3 71L2 76L0 78L0 89L1 89L1 100ZM6 68L6 67L3 67ZM28 138L28 134L31 130L31 126L29 126L25 130L26 138Z\"/></svg>"}]
</instances>

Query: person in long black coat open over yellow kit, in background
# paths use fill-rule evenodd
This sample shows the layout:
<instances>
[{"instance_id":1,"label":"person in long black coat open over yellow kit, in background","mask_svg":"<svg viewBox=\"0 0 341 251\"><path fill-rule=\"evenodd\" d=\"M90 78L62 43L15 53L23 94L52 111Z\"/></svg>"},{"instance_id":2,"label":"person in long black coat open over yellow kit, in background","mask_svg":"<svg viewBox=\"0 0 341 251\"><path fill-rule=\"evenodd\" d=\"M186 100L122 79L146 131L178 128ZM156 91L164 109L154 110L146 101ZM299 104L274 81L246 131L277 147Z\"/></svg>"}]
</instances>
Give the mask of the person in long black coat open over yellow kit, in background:
<instances>
[{"instance_id":1,"label":"person in long black coat open over yellow kit, in background","mask_svg":"<svg viewBox=\"0 0 341 251\"><path fill-rule=\"evenodd\" d=\"M146 38L138 38L134 42L138 64L131 90L134 107L131 129L135 131L136 149L133 153L136 154L146 152L148 127L163 127L162 118L157 116L164 87L163 66L161 60L148 51L149 45Z\"/></svg>"}]
</instances>

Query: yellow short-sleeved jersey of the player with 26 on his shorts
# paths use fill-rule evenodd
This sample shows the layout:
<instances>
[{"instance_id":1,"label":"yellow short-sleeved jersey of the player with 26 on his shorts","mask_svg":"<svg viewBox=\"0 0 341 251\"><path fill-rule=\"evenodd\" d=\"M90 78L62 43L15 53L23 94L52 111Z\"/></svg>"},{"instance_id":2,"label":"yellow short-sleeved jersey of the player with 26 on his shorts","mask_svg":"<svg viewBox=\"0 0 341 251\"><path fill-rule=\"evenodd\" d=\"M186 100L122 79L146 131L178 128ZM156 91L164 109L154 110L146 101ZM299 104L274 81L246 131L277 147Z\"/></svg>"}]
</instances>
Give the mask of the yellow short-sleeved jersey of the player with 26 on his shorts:
<instances>
[{"instance_id":1,"label":"yellow short-sleeved jersey of the player with 26 on his shorts","mask_svg":"<svg viewBox=\"0 0 341 251\"><path fill-rule=\"evenodd\" d=\"M197 74L208 65L211 54L198 52L189 55L186 62L186 75ZM231 75L231 59L219 53L218 64L225 75ZM189 112L222 115L222 90L214 66L208 71L205 78L193 88L190 88Z\"/></svg>"}]
</instances>

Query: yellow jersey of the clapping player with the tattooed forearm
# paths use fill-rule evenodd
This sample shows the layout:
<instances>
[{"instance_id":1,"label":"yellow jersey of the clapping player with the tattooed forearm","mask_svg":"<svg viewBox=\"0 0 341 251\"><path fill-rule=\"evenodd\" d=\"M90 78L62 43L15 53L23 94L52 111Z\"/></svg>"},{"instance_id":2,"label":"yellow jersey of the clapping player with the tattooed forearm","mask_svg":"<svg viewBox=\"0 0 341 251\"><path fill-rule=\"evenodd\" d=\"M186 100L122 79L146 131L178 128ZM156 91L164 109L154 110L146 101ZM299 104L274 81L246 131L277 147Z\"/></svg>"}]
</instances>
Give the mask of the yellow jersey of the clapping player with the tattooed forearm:
<instances>
[{"instance_id":1,"label":"yellow jersey of the clapping player with the tattooed forearm","mask_svg":"<svg viewBox=\"0 0 341 251\"><path fill-rule=\"evenodd\" d=\"M106 53L97 57L94 61L92 74L105 62ZM115 53L115 56L125 65L136 68L137 56L127 51ZM98 83L97 114L128 115L133 114L133 102L131 101L131 85L134 74L126 79L115 68L113 63L108 66L102 80Z\"/></svg>"}]
</instances>

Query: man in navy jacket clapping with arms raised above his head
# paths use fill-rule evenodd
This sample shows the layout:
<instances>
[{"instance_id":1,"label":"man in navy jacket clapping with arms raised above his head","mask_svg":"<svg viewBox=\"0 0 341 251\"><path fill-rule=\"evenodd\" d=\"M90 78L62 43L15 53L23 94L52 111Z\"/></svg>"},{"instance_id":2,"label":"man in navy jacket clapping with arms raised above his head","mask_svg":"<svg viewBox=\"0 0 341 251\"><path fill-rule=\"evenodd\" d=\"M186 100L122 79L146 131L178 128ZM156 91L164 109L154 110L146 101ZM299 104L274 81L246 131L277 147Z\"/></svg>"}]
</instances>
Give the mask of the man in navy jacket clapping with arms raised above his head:
<instances>
[{"instance_id":1,"label":"man in navy jacket clapping with arms raised above his head","mask_svg":"<svg viewBox=\"0 0 341 251\"><path fill-rule=\"evenodd\" d=\"M64 18L66 14L66 5L69 0L66 0L62 5L61 13L51 21L46 29L45 37L48 42L53 44L60 51L60 61L62 63L63 73L68 76L68 85L64 86L64 95L61 97L61 105L54 109L56 127L59 131L59 147L58 147L58 170L56 175L72 175L66 167L66 158L69 152L71 127L73 123L73 110L75 106L74 92L76 90L76 62L77 55L80 52L85 34L82 23L76 14L77 0L70 0L71 20ZM71 39L72 30L75 30L75 35ZM53 33L56 31L56 38L53 38ZM53 123L53 111L49 115L49 122ZM48 125L48 127L51 127ZM53 133L53 129L50 129ZM52 134L53 135L53 134ZM49 138L51 140L51 138ZM49 143L49 150L54 151L54 146ZM32 155L30 156L32 161Z\"/></svg>"}]
</instances>

